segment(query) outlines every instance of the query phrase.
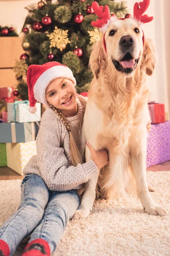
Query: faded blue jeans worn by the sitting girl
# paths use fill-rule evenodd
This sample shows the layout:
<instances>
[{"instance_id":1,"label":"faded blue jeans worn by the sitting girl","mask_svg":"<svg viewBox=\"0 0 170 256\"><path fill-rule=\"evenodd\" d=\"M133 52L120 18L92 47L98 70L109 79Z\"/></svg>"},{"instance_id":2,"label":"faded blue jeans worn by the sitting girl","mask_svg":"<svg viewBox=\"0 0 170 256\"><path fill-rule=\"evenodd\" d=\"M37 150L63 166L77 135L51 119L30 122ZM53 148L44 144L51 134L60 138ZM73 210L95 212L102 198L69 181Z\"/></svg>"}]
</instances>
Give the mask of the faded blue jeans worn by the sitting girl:
<instances>
[{"instance_id":1,"label":"faded blue jeans worn by the sitting girl","mask_svg":"<svg viewBox=\"0 0 170 256\"><path fill-rule=\"evenodd\" d=\"M0 239L8 244L10 256L30 234L29 242L44 239L52 253L79 204L79 195L75 190L49 191L41 177L27 175L21 183L20 207L0 227Z\"/></svg>"}]
</instances>

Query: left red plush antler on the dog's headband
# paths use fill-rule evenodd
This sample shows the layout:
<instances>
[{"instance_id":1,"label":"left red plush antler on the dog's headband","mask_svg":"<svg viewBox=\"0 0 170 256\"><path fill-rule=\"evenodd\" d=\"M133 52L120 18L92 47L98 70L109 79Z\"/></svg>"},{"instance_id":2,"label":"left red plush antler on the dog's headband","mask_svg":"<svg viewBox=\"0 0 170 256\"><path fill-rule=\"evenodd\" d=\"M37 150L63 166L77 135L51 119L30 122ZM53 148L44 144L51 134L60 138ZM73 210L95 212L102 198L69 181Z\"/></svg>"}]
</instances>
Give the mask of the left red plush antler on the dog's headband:
<instances>
[{"instance_id":1,"label":"left red plush antler on the dog's headband","mask_svg":"<svg viewBox=\"0 0 170 256\"><path fill-rule=\"evenodd\" d=\"M95 26L97 28L101 28L104 24L108 22L108 20L111 19L110 10L108 6L105 6L105 9L103 6L99 6L98 3L95 1L92 3L92 8L94 9L95 14L101 18L97 19L96 21L92 21L91 25Z\"/></svg>"}]
</instances>

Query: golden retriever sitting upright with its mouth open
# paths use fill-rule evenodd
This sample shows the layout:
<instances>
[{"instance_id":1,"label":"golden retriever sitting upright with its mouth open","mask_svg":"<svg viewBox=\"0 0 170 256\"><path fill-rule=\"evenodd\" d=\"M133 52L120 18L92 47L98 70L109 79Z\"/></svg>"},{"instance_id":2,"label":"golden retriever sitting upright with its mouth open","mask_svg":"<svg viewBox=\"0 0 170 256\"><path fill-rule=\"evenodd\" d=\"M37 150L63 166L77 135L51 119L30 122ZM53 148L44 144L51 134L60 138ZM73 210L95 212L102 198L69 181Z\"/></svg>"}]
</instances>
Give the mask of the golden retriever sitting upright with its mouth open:
<instances>
[{"instance_id":1,"label":"golden retriever sitting upright with its mouth open","mask_svg":"<svg viewBox=\"0 0 170 256\"><path fill-rule=\"evenodd\" d=\"M150 115L145 78L146 74L152 75L156 58L153 44L143 37L142 24L136 19L114 17L107 23L105 47L103 39L92 47L90 67L94 79L84 130L95 150L108 150L109 163L85 184L82 202L73 219L89 215L96 197L96 184L102 198L108 200L136 189L147 213L167 214L153 200L147 185L146 126ZM86 146L86 161L90 159Z\"/></svg>"}]
</instances>

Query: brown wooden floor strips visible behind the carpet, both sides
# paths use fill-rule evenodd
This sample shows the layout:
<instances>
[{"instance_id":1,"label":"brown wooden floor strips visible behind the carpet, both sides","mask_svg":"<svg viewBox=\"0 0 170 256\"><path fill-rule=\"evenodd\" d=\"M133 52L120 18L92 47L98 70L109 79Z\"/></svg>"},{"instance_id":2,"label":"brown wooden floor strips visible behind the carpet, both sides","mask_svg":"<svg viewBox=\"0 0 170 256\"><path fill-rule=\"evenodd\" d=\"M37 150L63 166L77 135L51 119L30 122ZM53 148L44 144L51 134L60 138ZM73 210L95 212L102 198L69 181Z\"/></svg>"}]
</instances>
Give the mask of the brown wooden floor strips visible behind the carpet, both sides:
<instances>
[{"instance_id":1,"label":"brown wooden floor strips visible behind the carpet, both sides","mask_svg":"<svg viewBox=\"0 0 170 256\"><path fill-rule=\"evenodd\" d=\"M147 171L158 172L158 171L170 171L170 161L161 163L157 166L148 167ZM17 180L23 179L24 176L19 175L8 167L0 167L0 180Z\"/></svg>"}]
</instances>

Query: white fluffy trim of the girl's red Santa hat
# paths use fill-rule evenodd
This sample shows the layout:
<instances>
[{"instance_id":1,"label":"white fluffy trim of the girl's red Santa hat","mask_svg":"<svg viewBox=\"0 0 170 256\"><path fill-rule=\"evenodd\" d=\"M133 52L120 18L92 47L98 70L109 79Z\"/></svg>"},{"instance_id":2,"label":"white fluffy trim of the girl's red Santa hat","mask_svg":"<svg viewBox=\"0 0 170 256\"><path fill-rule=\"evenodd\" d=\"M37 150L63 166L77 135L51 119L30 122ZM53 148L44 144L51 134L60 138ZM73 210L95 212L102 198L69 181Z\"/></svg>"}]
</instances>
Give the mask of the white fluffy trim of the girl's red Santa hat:
<instances>
[{"instance_id":1,"label":"white fluffy trim of the girl's red Santa hat","mask_svg":"<svg viewBox=\"0 0 170 256\"><path fill-rule=\"evenodd\" d=\"M44 73L37 79L36 83L34 84L34 98L48 106L48 102L46 101L45 90L48 84L56 79L56 78L67 78L74 82L74 86L76 86L76 79L73 76L73 73L69 67L65 66L54 66L45 70Z\"/></svg>"}]
</instances>

